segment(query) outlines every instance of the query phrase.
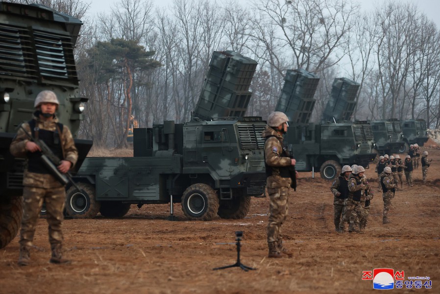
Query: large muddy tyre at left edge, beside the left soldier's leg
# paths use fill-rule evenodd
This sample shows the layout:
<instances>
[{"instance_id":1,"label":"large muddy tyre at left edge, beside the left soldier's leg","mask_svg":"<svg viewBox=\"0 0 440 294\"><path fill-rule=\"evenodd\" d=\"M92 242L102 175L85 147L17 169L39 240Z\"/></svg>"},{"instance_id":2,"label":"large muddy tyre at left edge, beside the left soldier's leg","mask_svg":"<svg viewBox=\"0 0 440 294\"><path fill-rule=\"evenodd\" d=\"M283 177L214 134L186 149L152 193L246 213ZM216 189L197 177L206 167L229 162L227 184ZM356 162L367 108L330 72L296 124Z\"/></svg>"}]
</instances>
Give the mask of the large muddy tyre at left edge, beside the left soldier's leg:
<instances>
[{"instance_id":1,"label":"large muddy tyre at left edge, beside the left soldier's leg","mask_svg":"<svg viewBox=\"0 0 440 294\"><path fill-rule=\"evenodd\" d=\"M2 196L0 200L0 249L17 236L23 217L23 197Z\"/></svg>"}]
</instances>

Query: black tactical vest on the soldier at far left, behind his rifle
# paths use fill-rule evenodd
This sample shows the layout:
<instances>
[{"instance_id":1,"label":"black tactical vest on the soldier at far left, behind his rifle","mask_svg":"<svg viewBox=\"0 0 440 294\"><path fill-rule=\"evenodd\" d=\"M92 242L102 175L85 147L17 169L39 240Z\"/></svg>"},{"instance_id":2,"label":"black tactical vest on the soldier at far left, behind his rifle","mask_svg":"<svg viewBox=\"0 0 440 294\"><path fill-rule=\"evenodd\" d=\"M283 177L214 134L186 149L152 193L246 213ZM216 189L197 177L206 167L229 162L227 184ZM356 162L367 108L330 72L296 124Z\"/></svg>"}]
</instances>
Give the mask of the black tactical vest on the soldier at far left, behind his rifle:
<instances>
[{"instance_id":1,"label":"black tactical vest on the soldier at far left, behind his rifle","mask_svg":"<svg viewBox=\"0 0 440 294\"><path fill-rule=\"evenodd\" d=\"M36 138L46 143L49 149L55 154L58 158L63 159L63 148L61 147L61 138L58 133L58 129L53 131L37 129L35 127L35 120L29 121L29 127L32 132L32 137ZM60 132L63 131L63 124L57 123ZM46 168L43 160L41 159L41 151L36 152L27 152L27 170L29 172L35 173L50 173L48 168Z\"/></svg>"}]
</instances>

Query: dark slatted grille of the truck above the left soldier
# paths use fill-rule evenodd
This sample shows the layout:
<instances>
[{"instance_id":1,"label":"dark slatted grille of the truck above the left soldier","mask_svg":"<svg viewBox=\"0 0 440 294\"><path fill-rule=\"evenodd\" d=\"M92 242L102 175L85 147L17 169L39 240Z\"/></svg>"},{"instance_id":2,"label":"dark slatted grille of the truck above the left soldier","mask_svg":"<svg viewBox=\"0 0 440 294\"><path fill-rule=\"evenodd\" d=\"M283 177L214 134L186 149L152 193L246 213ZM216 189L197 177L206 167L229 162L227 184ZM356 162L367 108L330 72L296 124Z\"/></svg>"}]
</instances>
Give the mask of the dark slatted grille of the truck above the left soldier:
<instances>
[{"instance_id":1,"label":"dark slatted grille of the truck above the left soldier","mask_svg":"<svg viewBox=\"0 0 440 294\"><path fill-rule=\"evenodd\" d=\"M72 38L68 34L1 24L0 38L0 76L30 80L70 78L78 83Z\"/></svg>"}]
</instances>

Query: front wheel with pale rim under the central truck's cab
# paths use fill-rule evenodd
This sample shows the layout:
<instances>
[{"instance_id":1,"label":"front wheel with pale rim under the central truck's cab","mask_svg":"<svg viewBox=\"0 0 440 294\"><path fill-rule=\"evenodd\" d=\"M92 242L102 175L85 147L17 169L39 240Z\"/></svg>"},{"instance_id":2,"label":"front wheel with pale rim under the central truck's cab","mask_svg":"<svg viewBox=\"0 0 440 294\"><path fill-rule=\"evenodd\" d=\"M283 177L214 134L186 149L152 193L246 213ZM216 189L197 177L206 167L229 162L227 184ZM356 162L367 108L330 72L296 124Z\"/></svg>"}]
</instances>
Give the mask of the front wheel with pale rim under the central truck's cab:
<instances>
[{"instance_id":1,"label":"front wheel with pale rim under the central truck's cab","mask_svg":"<svg viewBox=\"0 0 440 294\"><path fill-rule=\"evenodd\" d=\"M219 211L219 197L210 186L194 184L182 195L183 214L193 221L212 221Z\"/></svg>"}]
</instances>

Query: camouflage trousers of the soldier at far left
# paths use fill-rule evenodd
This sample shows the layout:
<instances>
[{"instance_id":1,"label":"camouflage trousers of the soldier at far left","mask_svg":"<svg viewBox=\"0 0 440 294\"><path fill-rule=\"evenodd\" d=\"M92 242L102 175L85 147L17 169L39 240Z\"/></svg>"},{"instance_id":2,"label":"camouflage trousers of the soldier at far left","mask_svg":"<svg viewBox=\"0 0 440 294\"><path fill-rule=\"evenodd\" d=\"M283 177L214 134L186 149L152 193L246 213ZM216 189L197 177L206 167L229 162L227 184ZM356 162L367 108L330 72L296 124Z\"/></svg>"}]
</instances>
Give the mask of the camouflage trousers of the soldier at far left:
<instances>
[{"instance_id":1,"label":"camouflage trousers of the soldier at far left","mask_svg":"<svg viewBox=\"0 0 440 294\"><path fill-rule=\"evenodd\" d=\"M46 201L49 242L50 244L61 244L63 242L61 222L63 221L65 201L64 187L45 189L25 186L23 188L23 200L24 206L22 228L20 230L20 245L32 245L43 201Z\"/></svg>"}]
</instances>

